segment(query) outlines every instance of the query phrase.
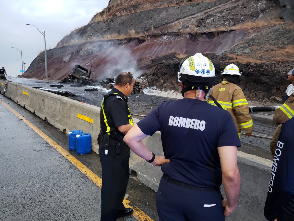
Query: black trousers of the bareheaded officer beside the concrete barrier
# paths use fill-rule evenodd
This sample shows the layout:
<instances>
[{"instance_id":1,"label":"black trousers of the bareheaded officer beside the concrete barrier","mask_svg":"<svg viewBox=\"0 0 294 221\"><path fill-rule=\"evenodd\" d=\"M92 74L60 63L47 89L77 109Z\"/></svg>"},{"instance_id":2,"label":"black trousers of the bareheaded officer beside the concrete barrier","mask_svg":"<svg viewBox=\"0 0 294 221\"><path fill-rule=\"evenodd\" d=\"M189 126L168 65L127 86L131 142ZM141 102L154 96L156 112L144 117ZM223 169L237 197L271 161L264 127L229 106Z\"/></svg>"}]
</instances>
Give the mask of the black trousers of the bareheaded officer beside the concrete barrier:
<instances>
[{"instance_id":1,"label":"black trousers of the bareheaded officer beside the concrete barrier","mask_svg":"<svg viewBox=\"0 0 294 221\"><path fill-rule=\"evenodd\" d=\"M101 221L115 221L117 214L125 210L123 198L129 179L130 148L123 146L121 153L115 154L115 147L109 146L108 155L104 154L104 143L99 145L102 167Z\"/></svg>"}]
</instances>

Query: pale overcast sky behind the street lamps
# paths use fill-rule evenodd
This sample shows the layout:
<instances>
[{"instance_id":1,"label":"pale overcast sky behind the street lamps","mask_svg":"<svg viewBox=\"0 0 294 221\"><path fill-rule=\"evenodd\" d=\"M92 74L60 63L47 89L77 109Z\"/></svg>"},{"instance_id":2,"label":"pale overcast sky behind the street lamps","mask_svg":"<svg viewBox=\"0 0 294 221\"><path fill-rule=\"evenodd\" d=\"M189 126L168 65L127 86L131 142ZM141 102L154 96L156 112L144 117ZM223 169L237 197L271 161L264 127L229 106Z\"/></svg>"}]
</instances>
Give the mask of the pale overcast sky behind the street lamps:
<instances>
[{"instance_id":1,"label":"pale overcast sky behind the street lamps","mask_svg":"<svg viewBox=\"0 0 294 221\"><path fill-rule=\"evenodd\" d=\"M71 31L88 24L108 5L108 1L1 0L0 68L4 66L8 76L16 77L21 74L19 51L22 51L25 69L44 51L44 37L34 26L45 31L46 48L49 50Z\"/></svg>"}]
</instances>

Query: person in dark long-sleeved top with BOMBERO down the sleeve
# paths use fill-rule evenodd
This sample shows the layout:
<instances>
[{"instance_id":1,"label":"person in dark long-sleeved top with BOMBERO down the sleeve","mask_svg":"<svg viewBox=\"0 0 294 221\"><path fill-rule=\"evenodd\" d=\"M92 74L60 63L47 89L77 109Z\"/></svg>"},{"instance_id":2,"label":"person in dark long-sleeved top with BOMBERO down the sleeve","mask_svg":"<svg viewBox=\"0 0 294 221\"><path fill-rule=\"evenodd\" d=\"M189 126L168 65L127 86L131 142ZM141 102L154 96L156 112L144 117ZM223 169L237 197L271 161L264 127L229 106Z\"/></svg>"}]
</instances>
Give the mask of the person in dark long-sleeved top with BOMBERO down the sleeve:
<instances>
[{"instance_id":1,"label":"person in dark long-sleeved top with BOMBERO down the sleeve","mask_svg":"<svg viewBox=\"0 0 294 221\"><path fill-rule=\"evenodd\" d=\"M281 127L275 149L268 195L264 206L267 220L294 220L294 118Z\"/></svg>"}]
</instances>

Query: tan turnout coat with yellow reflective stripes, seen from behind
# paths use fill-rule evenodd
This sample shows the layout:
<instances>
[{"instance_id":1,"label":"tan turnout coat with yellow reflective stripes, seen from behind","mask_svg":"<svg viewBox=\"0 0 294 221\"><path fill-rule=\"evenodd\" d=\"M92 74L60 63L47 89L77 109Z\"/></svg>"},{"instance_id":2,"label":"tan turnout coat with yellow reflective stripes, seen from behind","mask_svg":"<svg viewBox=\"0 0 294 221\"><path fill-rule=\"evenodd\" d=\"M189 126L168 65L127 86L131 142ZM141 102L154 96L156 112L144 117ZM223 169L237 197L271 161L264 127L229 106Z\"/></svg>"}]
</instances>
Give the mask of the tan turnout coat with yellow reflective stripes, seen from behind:
<instances>
[{"instance_id":1,"label":"tan turnout coat with yellow reflective stripes, seen from behind","mask_svg":"<svg viewBox=\"0 0 294 221\"><path fill-rule=\"evenodd\" d=\"M249 114L248 102L238 85L224 78L213 87L211 95L232 115L238 131L252 132L253 121ZM216 105L211 99L208 102Z\"/></svg>"}]
</instances>

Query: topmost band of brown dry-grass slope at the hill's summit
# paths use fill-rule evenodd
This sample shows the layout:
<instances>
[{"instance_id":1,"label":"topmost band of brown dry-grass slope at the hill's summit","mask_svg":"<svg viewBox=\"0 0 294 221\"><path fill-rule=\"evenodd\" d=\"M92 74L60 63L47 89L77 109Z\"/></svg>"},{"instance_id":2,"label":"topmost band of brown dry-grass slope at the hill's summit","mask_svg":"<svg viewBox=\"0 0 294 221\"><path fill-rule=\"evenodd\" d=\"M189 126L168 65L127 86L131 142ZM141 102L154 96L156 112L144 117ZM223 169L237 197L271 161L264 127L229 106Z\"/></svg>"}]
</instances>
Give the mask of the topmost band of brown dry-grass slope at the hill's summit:
<instances>
[{"instance_id":1,"label":"topmost band of brown dry-grass slope at the hill's summit","mask_svg":"<svg viewBox=\"0 0 294 221\"><path fill-rule=\"evenodd\" d=\"M112 17L132 14L139 11L146 11L155 8L173 7L190 3L211 2L215 0L123 0L116 4L106 7L103 11L93 16L89 24L104 21Z\"/></svg>"}]
</instances>

